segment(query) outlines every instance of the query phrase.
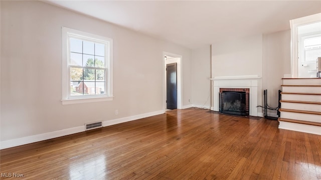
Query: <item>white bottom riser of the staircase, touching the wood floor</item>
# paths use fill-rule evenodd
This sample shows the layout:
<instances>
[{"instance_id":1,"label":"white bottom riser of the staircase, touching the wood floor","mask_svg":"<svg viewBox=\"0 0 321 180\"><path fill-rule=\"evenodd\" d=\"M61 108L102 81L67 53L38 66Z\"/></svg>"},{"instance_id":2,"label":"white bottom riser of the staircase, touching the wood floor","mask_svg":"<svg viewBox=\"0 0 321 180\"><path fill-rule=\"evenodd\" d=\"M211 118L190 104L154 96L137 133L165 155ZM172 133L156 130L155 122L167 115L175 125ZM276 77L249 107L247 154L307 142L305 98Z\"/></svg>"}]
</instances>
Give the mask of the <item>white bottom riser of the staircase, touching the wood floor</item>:
<instances>
[{"instance_id":1,"label":"white bottom riser of the staircase, touching the wood floor","mask_svg":"<svg viewBox=\"0 0 321 180\"><path fill-rule=\"evenodd\" d=\"M321 135L321 127L315 125L280 121L279 128Z\"/></svg>"}]
</instances>

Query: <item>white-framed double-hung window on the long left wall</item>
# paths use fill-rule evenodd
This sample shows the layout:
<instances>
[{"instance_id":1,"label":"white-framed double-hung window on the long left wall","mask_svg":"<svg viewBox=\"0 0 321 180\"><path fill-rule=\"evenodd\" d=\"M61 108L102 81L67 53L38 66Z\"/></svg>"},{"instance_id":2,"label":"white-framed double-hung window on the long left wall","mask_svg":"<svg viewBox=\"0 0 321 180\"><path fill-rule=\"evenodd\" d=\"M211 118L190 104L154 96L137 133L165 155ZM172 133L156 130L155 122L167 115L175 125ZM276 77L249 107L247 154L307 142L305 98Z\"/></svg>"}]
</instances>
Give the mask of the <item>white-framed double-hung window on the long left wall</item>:
<instances>
[{"instance_id":1,"label":"white-framed double-hung window on the long left wall","mask_svg":"<svg viewBox=\"0 0 321 180\"><path fill-rule=\"evenodd\" d=\"M62 31L63 104L112 100L112 39Z\"/></svg>"}]
</instances>

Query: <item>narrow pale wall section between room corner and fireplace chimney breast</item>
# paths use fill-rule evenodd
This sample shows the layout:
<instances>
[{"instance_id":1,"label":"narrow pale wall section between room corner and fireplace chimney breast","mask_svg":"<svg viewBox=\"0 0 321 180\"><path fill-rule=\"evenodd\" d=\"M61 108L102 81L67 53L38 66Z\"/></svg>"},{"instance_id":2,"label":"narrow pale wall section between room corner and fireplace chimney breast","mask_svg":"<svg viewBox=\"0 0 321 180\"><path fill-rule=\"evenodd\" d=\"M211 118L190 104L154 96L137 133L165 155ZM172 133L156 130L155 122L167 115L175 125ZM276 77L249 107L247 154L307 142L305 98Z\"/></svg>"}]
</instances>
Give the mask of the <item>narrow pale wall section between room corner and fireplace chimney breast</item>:
<instances>
[{"instance_id":1,"label":"narrow pale wall section between room corner and fireplace chimney breast","mask_svg":"<svg viewBox=\"0 0 321 180\"><path fill-rule=\"evenodd\" d=\"M211 46L192 49L192 96L197 107L211 108Z\"/></svg>"}]
</instances>

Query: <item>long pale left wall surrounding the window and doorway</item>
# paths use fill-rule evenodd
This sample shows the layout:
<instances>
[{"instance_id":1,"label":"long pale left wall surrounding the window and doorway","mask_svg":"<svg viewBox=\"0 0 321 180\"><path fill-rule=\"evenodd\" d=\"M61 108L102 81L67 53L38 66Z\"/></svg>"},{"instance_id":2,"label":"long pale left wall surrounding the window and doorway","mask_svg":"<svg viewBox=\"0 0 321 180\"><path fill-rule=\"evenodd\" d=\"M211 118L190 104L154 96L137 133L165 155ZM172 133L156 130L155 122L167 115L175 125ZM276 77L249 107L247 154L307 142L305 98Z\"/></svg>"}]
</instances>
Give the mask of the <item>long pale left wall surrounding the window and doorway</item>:
<instances>
[{"instance_id":1,"label":"long pale left wall surrounding the window and doorway","mask_svg":"<svg viewBox=\"0 0 321 180\"><path fill-rule=\"evenodd\" d=\"M0 3L1 141L162 112L163 51L183 56L183 105L189 104L190 49L41 1ZM113 38L112 101L62 105L62 26Z\"/></svg>"}]
</instances>

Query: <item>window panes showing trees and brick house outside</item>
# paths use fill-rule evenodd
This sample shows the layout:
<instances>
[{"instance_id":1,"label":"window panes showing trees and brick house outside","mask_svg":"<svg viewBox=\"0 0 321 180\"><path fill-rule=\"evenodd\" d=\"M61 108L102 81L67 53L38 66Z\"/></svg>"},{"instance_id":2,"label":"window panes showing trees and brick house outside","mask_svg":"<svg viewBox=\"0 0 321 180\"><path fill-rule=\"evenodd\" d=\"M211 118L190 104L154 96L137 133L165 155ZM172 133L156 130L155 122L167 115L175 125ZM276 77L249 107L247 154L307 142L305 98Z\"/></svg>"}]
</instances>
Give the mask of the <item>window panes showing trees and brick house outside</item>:
<instances>
[{"instance_id":1,"label":"window panes showing trees and brick house outside","mask_svg":"<svg viewBox=\"0 0 321 180\"><path fill-rule=\"evenodd\" d=\"M70 95L105 93L105 44L69 39Z\"/></svg>"}]
</instances>

